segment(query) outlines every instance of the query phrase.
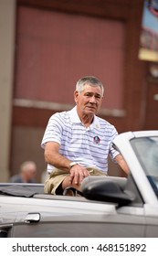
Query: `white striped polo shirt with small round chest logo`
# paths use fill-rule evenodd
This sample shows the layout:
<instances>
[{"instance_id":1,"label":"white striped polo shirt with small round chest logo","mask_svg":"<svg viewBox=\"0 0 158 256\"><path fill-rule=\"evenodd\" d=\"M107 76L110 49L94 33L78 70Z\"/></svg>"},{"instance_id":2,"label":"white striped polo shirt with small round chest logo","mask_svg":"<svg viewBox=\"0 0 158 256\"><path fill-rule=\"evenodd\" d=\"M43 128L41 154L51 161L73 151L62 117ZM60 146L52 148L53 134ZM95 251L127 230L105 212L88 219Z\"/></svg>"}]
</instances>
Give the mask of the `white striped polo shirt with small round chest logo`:
<instances>
[{"instance_id":1,"label":"white striped polo shirt with small round chest logo","mask_svg":"<svg viewBox=\"0 0 158 256\"><path fill-rule=\"evenodd\" d=\"M74 107L68 112L57 112L50 117L41 146L45 148L47 142L56 142L60 145L59 153L70 161L107 173L108 155L113 160L119 154L111 145L117 134L111 123L96 115L90 127L86 128ZM48 173L53 169L54 166L47 165Z\"/></svg>"}]
</instances>

